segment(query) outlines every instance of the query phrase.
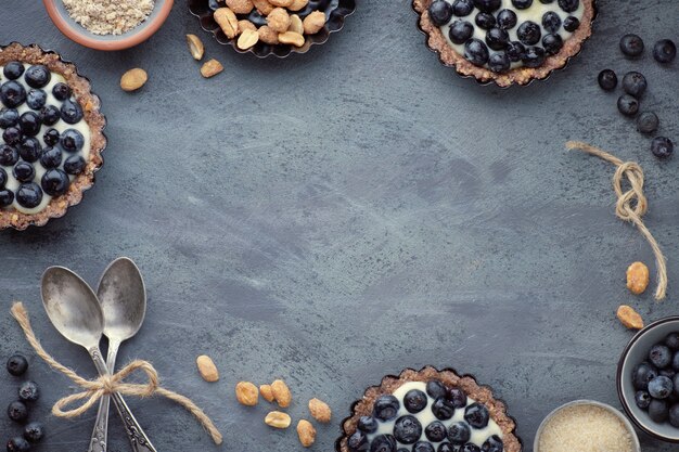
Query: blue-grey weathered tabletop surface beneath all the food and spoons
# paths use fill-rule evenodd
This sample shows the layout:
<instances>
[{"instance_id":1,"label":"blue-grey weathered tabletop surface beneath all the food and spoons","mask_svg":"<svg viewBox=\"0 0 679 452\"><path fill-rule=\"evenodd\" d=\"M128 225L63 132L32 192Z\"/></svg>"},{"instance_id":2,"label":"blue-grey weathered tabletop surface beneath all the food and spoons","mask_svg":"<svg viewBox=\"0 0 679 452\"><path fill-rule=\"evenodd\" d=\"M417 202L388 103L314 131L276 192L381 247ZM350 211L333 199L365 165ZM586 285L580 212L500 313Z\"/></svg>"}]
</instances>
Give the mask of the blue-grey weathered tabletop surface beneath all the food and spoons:
<instances>
[{"instance_id":1,"label":"blue-grey weathered tabletop surface beneath all the food and spoons","mask_svg":"<svg viewBox=\"0 0 679 452\"><path fill-rule=\"evenodd\" d=\"M132 257L150 306L120 363L153 361L225 434L215 448L181 409L130 400L161 451L299 450L294 431L262 424L266 403L235 403L240 379L285 378L295 418L309 398L325 399L334 421L315 447L325 451L351 401L407 366L450 365L491 385L526 451L561 403L619 406L615 369L631 334L616 308L630 304L648 321L677 313L679 182L677 159L651 155L595 75L642 69L644 107L679 142L677 62L662 68L649 52L628 62L617 51L625 31L648 44L679 38L675 0L600 1L595 35L567 70L505 91L440 66L405 0L361 2L329 43L284 61L218 46L177 3L149 42L102 53L62 37L42 2L2 1L0 42L38 42L76 62L103 99L111 142L82 204L44 228L2 233L2 310L24 300L48 350L91 376L84 352L48 324L40 274L63 264L97 284L110 260ZM185 33L205 40L223 74L200 77ZM118 80L134 66L150 81L127 94ZM612 168L565 152L572 139L645 169L646 221L669 258L664 304L626 290L626 267L652 255L613 215ZM49 416L73 385L35 359L9 314L0 344L2 361L31 357L43 388L34 417L49 438L36 450L85 451L94 412ZM203 352L221 369L218 384L195 373ZM16 384L0 372L0 405ZM16 431L0 416L2 437ZM645 451L671 450L641 439ZM129 450L114 417L110 447Z\"/></svg>"}]
</instances>

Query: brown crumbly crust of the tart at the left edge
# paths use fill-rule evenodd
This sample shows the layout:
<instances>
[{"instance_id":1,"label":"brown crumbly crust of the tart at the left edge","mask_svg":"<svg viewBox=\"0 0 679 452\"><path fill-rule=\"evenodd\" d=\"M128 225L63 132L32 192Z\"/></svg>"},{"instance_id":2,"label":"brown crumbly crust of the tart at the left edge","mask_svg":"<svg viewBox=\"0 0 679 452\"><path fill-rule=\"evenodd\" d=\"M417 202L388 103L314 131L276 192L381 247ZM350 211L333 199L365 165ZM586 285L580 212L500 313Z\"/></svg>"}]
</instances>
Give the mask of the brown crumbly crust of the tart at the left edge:
<instances>
[{"instance_id":1,"label":"brown crumbly crust of the tart at the left edge","mask_svg":"<svg viewBox=\"0 0 679 452\"><path fill-rule=\"evenodd\" d=\"M76 176L65 194L53 197L46 208L37 214L23 214L15 209L0 210L0 230L13 228L23 231L29 225L40 227L51 218L63 217L68 207L80 203L82 193L94 184L94 173L104 164L101 153L106 147L106 137L104 135L106 118L100 112L101 101L99 96L91 92L90 80L80 76L73 63L62 60L55 52L44 51L35 44L24 47L13 42L7 47L0 47L0 65L10 61L43 64L51 72L63 76L72 88L75 99L82 107L85 121L91 132L91 150L85 170Z\"/></svg>"}]
</instances>

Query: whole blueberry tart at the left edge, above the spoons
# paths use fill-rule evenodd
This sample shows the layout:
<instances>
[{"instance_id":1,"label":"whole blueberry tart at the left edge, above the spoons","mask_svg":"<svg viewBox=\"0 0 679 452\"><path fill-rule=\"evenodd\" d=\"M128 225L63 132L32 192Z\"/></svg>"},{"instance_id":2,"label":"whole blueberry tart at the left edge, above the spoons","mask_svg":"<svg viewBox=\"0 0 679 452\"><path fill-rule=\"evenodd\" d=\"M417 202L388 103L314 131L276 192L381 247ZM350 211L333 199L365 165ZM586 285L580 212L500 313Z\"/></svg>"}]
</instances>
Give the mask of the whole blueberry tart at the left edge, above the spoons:
<instances>
[{"instance_id":1,"label":"whole blueberry tart at the left edge, above the spoons","mask_svg":"<svg viewBox=\"0 0 679 452\"><path fill-rule=\"evenodd\" d=\"M0 48L0 229L42 225L80 202L103 164L99 107L56 53Z\"/></svg>"}]
</instances>

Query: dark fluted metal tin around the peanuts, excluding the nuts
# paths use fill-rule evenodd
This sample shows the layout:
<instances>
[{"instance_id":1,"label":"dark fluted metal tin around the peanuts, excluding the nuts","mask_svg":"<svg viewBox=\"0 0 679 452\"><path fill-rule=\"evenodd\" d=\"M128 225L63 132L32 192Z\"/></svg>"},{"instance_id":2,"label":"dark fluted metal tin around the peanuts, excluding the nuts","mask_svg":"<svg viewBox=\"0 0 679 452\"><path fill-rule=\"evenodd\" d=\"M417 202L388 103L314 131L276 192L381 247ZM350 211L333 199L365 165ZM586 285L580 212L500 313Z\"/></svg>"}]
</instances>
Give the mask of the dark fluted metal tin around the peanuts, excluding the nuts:
<instances>
[{"instance_id":1,"label":"dark fluted metal tin around the peanuts, excluding the nuts","mask_svg":"<svg viewBox=\"0 0 679 452\"><path fill-rule=\"evenodd\" d=\"M304 18L312 11L320 7L325 11L325 26L316 35L305 35L305 43L302 47L290 44L269 46L261 41L247 50L241 50L235 44L236 39L229 39L221 31L219 25L213 18L213 12L225 5L223 0L189 0L189 11L198 18L201 28L207 33L212 33L217 42L223 46L231 46L239 53L252 53L253 55L265 59L269 55L285 57L291 53L306 53L311 46L322 44L328 41L332 33L340 31L344 27L345 18L356 11L356 0L310 0L307 8L297 12L299 17ZM246 18L257 26L266 25L266 17L262 17L257 10L253 10L249 14L239 14L239 20Z\"/></svg>"}]
</instances>

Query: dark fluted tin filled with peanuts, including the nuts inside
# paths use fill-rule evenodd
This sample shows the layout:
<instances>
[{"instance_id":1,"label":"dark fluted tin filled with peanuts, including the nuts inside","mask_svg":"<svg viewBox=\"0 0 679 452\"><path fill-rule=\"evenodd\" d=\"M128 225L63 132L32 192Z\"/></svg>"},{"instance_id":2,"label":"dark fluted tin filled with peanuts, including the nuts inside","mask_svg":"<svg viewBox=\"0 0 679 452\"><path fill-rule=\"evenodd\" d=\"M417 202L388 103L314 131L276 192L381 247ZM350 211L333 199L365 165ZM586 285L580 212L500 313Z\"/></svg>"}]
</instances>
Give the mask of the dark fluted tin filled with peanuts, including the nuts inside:
<instances>
[{"instance_id":1,"label":"dark fluted tin filled with peanuts, including the nuts inside","mask_svg":"<svg viewBox=\"0 0 679 452\"><path fill-rule=\"evenodd\" d=\"M257 57L306 53L344 27L356 0L189 0L217 42Z\"/></svg>"}]
</instances>

